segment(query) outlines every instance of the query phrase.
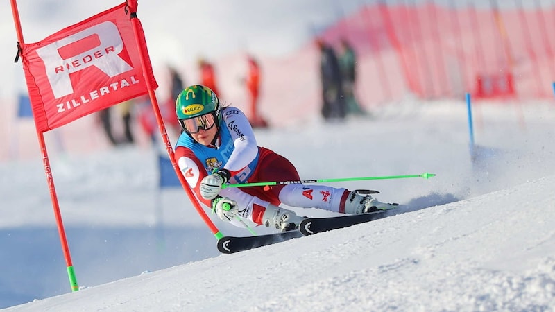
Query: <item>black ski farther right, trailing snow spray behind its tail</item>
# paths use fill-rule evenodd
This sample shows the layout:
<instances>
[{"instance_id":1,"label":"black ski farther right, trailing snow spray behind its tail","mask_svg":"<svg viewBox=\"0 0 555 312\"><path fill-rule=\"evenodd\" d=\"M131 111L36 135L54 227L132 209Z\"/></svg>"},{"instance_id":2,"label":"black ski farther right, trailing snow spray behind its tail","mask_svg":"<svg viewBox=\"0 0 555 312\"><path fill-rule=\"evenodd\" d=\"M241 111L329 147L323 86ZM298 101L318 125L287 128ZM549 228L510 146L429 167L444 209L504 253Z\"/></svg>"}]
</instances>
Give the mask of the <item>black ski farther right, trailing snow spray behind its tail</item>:
<instances>
[{"instance_id":1,"label":"black ski farther right, trailing snow spray behind its tail","mask_svg":"<svg viewBox=\"0 0 555 312\"><path fill-rule=\"evenodd\" d=\"M332 229L341 229L350 227L359 223L365 223L373 220L391 216L387 211L376 211L370 214L357 214L353 216L336 216L329 218L307 218L302 220L299 230L302 235L312 235L321 232L331 231Z\"/></svg>"}]
</instances>

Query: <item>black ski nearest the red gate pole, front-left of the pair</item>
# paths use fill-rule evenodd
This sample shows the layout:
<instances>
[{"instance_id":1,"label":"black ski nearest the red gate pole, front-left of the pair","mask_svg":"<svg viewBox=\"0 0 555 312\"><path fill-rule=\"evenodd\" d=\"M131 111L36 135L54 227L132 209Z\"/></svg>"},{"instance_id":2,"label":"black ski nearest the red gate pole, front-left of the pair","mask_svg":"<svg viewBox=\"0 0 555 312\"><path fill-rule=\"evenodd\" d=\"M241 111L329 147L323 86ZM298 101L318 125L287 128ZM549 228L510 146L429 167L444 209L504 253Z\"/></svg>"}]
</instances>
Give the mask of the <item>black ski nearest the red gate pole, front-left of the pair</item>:
<instances>
[{"instance_id":1,"label":"black ski nearest the red gate pole, front-left of the pair","mask_svg":"<svg viewBox=\"0 0 555 312\"><path fill-rule=\"evenodd\" d=\"M259 236L223 236L218 240L218 250L224 254L232 254L273 243L280 243L289 239L296 239L301 236L302 234L296 230Z\"/></svg>"}]
</instances>

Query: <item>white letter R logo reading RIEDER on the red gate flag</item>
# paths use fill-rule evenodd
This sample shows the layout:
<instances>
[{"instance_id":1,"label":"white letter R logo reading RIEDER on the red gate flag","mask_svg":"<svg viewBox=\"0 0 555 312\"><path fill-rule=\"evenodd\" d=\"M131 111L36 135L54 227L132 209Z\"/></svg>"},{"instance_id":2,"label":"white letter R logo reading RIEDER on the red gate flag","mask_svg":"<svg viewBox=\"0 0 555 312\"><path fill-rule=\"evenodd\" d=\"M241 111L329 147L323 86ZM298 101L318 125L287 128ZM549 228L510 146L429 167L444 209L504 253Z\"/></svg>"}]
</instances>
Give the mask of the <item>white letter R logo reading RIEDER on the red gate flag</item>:
<instances>
[{"instance_id":1,"label":"white letter R logo reading RIEDER on the red gate flag","mask_svg":"<svg viewBox=\"0 0 555 312\"><path fill-rule=\"evenodd\" d=\"M110 21L103 21L37 49L37 55L44 62L54 97L61 98L74 93L70 73L94 66L112 78L133 70L118 55L123 51L123 46L117 26Z\"/></svg>"}]
</instances>

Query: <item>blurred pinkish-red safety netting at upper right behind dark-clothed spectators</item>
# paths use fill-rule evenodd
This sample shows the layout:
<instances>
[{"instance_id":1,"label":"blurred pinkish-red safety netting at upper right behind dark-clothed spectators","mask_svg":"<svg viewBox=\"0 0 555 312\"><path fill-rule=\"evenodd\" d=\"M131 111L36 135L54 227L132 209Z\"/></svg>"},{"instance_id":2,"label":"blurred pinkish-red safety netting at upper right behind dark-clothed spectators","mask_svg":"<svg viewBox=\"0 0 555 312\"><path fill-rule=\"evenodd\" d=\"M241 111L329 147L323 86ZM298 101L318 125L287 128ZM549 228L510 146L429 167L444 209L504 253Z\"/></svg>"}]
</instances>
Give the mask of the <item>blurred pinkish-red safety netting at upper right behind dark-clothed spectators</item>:
<instances>
[{"instance_id":1,"label":"blurred pinkish-red safety netting at upper right behind dark-clothed spectators","mask_svg":"<svg viewBox=\"0 0 555 312\"><path fill-rule=\"evenodd\" d=\"M365 64L373 68L361 71L373 72L366 75L366 85L380 86L380 100L404 91L427 99L466 92L476 98L552 96L553 6L523 8L518 0L511 1L511 8L456 2L456 7L432 1L366 6L322 36L334 45L345 38L359 59L372 59Z\"/></svg>"}]
</instances>

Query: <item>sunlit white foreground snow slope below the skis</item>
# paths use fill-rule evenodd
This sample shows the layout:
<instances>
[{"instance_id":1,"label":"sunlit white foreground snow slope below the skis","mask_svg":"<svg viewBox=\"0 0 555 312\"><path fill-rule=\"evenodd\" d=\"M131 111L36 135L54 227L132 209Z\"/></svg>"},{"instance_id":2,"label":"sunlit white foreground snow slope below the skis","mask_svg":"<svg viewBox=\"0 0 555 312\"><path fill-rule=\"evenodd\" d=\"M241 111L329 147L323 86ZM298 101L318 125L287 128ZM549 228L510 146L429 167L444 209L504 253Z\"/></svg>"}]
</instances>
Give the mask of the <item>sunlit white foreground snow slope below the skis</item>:
<instances>
[{"instance_id":1,"label":"sunlit white foreground snow slope below the skis","mask_svg":"<svg viewBox=\"0 0 555 312\"><path fill-rule=\"evenodd\" d=\"M544 208L555 200L554 182L546 177L6 311L552 311L555 214Z\"/></svg>"}]
</instances>

